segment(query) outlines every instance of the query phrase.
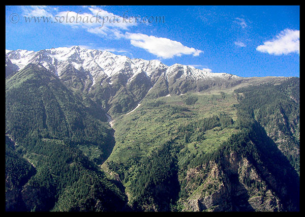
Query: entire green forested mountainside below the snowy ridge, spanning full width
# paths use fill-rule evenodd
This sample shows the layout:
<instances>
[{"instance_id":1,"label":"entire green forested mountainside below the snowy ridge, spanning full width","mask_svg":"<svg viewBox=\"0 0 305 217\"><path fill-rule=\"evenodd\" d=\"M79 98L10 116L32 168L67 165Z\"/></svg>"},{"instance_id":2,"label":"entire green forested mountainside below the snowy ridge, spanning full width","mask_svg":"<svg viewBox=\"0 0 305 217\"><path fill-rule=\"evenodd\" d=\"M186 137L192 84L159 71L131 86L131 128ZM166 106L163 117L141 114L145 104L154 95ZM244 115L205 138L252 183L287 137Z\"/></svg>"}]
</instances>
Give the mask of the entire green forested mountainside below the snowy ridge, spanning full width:
<instances>
[{"instance_id":1,"label":"entire green forested mountainside below the snowy ridge, spanning full width","mask_svg":"<svg viewBox=\"0 0 305 217\"><path fill-rule=\"evenodd\" d=\"M6 78L6 210L299 210L298 78L174 95L69 77Z\"/></svg>"}]
</instances>

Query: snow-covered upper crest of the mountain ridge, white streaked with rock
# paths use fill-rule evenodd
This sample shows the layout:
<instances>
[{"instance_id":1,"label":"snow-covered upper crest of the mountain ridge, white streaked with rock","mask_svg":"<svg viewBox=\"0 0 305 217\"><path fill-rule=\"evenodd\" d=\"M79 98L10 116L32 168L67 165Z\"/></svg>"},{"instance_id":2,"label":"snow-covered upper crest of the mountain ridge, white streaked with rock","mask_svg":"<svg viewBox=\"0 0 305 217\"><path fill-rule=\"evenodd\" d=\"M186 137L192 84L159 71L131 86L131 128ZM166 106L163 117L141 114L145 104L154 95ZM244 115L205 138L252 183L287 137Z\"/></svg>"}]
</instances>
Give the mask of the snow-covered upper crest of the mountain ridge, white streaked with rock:
<instances>
[{"instance_id":1,"label":"snow-covered upper crest of the mountain ridge, white streaked with rock","mask_svg":"<svg viewBox=\"0 0 305 217\"><path fill-rule=\"evenodd\" d=\"M176 74L195 80L238 77L226 73L212 73L180 64L168 67L159 60L131 59L108 51L85 49L79 46L52 48L37 52L19 49L6 50L6 55L18 70L23 69L29 63L37 63L58 77L62 77L67 66L70 66L70 68L72 67L90 78L93 81L92 85L99 78L111 78L117 73L125 74L129 79L128 81L131 81L135 75L144 72L153 80L153 83L161 74L165 74L167 79Z\"/></svg>"}]
</instances>

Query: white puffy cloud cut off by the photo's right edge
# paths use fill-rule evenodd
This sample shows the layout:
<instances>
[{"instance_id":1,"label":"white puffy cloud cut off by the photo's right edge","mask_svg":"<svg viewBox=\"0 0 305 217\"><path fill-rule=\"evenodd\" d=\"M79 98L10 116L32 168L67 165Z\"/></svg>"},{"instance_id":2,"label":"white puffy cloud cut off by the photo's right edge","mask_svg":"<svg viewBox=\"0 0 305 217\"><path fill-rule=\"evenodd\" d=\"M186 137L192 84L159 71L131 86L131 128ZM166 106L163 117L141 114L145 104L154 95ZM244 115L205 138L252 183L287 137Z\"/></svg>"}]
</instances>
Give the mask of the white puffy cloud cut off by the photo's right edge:
<instances>
[{"instance_id":1,"label":"white puffy cloud cut off by the photo's right edge","mask_svg":"<svg viewBox=\"0 0 305 217\"><path fill-rule=\"evenodd\" d=\"M275 39L264 42L256 48L257 51L282 55L288 53L300 53L300 31L285 29Z\"/></svg>"}]
</instances>

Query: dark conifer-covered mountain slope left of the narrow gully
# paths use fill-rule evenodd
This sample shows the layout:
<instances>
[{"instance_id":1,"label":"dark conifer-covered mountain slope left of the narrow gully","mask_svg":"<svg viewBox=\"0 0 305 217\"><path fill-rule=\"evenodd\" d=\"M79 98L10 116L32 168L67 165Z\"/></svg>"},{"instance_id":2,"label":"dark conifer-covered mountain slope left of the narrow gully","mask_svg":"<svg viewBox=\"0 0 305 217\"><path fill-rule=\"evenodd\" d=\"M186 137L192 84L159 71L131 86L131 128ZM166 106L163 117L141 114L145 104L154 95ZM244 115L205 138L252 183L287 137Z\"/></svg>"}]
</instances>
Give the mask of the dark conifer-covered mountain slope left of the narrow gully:
<instances>
[{"instance_id":1,"label":"dark conifer-covered mountain slope left of the narrow gully","mask_svg":"<svg viewBox=\"0 0 305 217\"><path fill-rule=\"evenodd\" d=\"M114 145L112 129L84 102L39 66L7 80L7 210L124 209L124 192L97 166Z\"/></svg>"}]
</instances>

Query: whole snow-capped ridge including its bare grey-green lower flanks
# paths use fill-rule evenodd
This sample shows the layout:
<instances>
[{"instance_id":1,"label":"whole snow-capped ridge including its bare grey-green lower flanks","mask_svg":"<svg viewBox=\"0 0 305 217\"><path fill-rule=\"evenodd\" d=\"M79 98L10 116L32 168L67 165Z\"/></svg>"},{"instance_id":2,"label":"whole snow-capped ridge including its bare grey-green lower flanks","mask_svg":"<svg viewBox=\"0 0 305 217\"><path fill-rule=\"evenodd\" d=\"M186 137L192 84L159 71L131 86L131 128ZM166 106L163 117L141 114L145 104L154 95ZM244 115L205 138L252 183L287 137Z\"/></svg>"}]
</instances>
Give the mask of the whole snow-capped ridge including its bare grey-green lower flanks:
<instances>
[{"instance_id":1,"label":"whole snow-capped ridge including its bare grey-green lower flanks","mask_svg":"<svg viewBox=\"0 0 305 217\"><path fill-rule=\"evenodd\" d=\"M127 113L144 98L234 86L243 78L159 60L131 59L79 46L40 51L6 50L6 76L38 64L73 90L83 92L109 114Z\"/></svg>"}]
</instances>

